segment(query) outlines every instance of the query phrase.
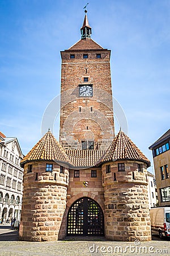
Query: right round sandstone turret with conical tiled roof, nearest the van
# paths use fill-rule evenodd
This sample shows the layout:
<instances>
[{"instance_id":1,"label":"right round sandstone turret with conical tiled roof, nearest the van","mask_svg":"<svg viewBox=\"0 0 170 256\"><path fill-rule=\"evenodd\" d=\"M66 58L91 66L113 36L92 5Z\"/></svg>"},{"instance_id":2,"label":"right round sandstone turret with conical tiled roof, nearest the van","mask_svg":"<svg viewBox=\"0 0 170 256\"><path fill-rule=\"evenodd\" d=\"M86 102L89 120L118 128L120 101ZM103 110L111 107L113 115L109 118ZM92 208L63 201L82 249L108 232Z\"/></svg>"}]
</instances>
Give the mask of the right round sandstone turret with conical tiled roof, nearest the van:
<instances>
[{"instance_id":1,"label":"right round sandstone turret with conical tiled roof, nearest the van","mask_svg":"<svg viewBox=\"0 0 170 256\"><path fill-rule=\"evenodd\" d=\"M102 163L105 237L113 241L151 240L147 195L150 161L120 131Z\"/></svg>"}]
</instances>

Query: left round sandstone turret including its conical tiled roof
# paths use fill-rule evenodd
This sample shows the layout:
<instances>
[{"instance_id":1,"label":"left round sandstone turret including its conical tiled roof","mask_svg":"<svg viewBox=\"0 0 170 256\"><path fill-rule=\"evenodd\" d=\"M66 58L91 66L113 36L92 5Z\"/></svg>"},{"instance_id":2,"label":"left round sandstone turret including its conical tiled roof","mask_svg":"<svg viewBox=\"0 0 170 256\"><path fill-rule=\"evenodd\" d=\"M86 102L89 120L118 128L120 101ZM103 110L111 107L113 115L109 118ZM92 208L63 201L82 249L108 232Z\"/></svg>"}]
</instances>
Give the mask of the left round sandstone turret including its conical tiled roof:
<instances>
[{"instance_id":1,"label":"left round sandstone turret including its conical tiled roof","mask_svg":"<svg viewBox=\"0 0 170 256\"><path fill-rule=\"evenodd\" d=\"M59 162L58 162L59 161ZM65 237L69 163L63 148L48 131L24 157L24 191L19 239L52 241Z\"/></svg>"}]
</instances>

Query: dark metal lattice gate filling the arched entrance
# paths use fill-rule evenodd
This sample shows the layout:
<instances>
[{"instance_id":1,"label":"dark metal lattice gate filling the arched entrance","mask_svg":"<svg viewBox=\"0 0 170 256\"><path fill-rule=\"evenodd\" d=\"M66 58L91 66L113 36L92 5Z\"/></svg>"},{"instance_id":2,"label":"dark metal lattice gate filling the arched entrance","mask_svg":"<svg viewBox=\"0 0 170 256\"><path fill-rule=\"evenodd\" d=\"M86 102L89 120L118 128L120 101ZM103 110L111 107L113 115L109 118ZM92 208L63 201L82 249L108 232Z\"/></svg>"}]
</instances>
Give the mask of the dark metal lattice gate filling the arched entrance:
<instances>
[{"instance_id":1,"label":"dark metal lattice gate filling the arched entrance","mask_svg":"<svg viewBox=\"0 0 170 256\"><path fill-rule=\"evenodd\" d=\"M67 215L67 236L104 236L103 211L96 201L82 197Z\"/></svg>"}]
</instances>

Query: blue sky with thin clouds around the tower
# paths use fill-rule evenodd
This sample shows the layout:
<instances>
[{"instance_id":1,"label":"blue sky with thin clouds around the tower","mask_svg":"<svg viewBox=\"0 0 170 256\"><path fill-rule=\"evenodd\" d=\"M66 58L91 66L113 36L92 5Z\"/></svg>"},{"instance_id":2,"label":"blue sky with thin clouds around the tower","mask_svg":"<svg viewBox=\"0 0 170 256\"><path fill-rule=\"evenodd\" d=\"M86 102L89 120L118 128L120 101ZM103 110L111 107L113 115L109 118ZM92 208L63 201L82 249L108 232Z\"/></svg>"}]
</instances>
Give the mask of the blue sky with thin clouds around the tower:
<instances>
[{"instance_id":1,"label":"blue sky with thin clouds around the tower","mask_svg":"<svg viewBox=\"0 0 170 256\"><path fill-rule=\"evenodd\" d=\"M60 92L60 51L80 39L86 3L0 1L0 130L18 138L23 154L41 138L42 115ZM126 114L128 135L150 160L148 146L169 129L169 14L169 0L88 5L92 39L112 50L113 96ZM57 118L56 138L58 127Z\"/></svg>"}]
</instances>

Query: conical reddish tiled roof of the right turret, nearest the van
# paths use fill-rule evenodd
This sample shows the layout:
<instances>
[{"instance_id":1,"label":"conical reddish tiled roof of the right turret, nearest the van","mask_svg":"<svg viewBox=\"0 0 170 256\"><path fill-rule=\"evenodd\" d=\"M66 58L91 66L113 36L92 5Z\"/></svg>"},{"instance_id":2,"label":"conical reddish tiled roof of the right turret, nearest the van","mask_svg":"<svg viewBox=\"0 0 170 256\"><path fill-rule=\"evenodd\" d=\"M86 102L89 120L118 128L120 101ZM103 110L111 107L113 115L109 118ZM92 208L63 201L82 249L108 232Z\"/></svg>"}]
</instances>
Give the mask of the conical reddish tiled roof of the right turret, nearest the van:
<instances>
[{"instance_id":1,"label":"conical reddish tiled roof of the right turret, nearest the van","mask_svg":"<svg viewBox=\"0 0 170 256\"><path fill-rule=\"evenodd\" d=\"M141 160L146 162L147 166L150 166L150 160L146 158L142 151L139 150L123 131L120 131L108 148L101 163L124 159Z\"/></svg>"}]
</instances>

